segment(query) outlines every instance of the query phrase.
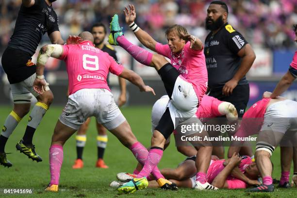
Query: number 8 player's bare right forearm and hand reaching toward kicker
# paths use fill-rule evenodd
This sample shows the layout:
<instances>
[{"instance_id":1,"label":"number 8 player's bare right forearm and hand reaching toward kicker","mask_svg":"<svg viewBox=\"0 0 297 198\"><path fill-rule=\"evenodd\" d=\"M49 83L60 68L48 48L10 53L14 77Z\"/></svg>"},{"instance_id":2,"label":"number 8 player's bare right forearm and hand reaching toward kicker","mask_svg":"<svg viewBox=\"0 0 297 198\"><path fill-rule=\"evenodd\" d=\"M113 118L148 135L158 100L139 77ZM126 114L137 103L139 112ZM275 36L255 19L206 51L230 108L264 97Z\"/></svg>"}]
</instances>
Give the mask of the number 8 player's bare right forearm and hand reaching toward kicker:
<instances>
[{"instance_id":1,"label":"number 8 player's bare right forearm and hand reaching toward kicker","mask_svg":"<svg viewBox=\"0 0 297 198\"><path fill-rule=\"evenodd\" d=\"M143 92L143 91L144 92L151 92L151 93L153 93L153 95L156 95L153 88L145 85L142 78L138 74L136 74L134 71L132 71L130 69L124 68L124 70L119 75L119 77L122 77L122 78L132 82L133 84L135 84L137 87L139 87L139 90L141 92Z\"/></svg>"}]
</instances>

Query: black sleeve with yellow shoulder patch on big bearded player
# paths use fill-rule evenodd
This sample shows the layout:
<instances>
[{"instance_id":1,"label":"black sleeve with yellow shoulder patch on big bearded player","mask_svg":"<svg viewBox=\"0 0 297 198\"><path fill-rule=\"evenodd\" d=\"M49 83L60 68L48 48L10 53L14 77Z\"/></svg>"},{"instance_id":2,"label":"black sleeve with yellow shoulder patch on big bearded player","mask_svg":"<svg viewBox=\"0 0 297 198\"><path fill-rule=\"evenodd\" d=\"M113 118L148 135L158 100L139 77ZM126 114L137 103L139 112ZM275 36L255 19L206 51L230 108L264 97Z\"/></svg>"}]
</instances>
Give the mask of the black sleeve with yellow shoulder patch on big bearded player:
<instances>
[{"instance_id":1,"label":"black sleeve with yellow shoulder patch on big bearded player","mask_svg":"<svg viewBox=\"0 0 297 198\"><path fill-rule=\"evenodd\" d=\"M247 45L246 39L241 33L235 31L231 25L225 26L226 28L226 45L232 53L237 54L240 49Z\"/></svg>"}]
</instances>

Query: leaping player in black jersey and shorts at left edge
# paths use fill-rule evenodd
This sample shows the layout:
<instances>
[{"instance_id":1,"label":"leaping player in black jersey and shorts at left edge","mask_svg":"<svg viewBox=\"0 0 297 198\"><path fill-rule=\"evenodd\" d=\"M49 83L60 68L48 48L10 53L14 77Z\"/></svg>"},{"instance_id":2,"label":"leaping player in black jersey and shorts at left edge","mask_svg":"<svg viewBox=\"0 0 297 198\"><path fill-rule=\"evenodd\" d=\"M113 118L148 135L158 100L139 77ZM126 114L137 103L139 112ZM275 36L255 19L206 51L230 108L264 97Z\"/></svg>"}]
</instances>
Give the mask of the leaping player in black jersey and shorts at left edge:
<instances>
[{"instance_id":1,"label":"leaping player in black jersey and shorts at left edge","mask_svg":"<svg viewBox=\"0 0 297 198\"><path fill-rule=\"evenodd\" d=\"M58 27L58 17L53 10L55 0L22 0L16 26L8 47L2 55L1 63L10 83L14 108L7 116L0 135L0 165L10 167L13 164L6 159L4 147L19 121L28 114L32 94L38 100L29 116L29 122L23 138L16 144L16 149L37 162L42 158L36 154L32 143L34 132L42 117L49 109L53 94L46 85L46 92L39 95L33 90L36 66L32 60L42 35L48 33L52 44L64 44ZM79 38L69 36L67 43L76 43Z\"/></svg>"}]
</instances>

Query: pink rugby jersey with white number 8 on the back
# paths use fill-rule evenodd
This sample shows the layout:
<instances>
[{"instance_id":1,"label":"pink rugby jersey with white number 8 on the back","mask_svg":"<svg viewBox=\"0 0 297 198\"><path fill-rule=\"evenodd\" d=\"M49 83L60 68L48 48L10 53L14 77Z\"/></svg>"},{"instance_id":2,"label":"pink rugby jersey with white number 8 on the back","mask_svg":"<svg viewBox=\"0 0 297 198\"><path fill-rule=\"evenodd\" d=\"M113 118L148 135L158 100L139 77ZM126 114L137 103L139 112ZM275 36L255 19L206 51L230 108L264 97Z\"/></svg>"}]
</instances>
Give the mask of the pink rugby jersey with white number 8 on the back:
<instances>
[{"instance_id":1,"label":"pink rugby jersey with white number 8 on the back","mask_svg":"<svg viewBox=\"0 0 297 198\"><path fill-rule=\"evenodd\" d=\"M120 75L124 69L108 53L94 47L91 41L78 45L64 45L59 59L66 62L69 95L80 89L103 88L110 91L108 72Z\"/></svg>"}]
</instances>

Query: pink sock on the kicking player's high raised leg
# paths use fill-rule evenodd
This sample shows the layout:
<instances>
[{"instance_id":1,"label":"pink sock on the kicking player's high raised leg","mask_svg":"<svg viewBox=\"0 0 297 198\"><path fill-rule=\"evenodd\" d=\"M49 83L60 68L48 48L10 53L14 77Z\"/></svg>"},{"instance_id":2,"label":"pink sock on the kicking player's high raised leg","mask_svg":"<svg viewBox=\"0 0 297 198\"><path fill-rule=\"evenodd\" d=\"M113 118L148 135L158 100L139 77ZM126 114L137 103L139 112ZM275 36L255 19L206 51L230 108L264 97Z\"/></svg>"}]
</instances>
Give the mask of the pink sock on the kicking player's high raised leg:
<instances>
[{"instance_id":1,"label":"pink sock on the kicking player's high raised leg","mask_svg":"<svg viewBox=\"0 0 297 198\"><path fill-rule=\"evenodd\" d=\"M119 46L130 53L136 61L146 66L150 65L153 54L150 53L148 50L130 43L130 41L128 41L124 35L118 36L116 38L116 41L118 42Z\"/></svg>"}]
</instances>

